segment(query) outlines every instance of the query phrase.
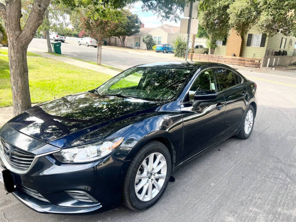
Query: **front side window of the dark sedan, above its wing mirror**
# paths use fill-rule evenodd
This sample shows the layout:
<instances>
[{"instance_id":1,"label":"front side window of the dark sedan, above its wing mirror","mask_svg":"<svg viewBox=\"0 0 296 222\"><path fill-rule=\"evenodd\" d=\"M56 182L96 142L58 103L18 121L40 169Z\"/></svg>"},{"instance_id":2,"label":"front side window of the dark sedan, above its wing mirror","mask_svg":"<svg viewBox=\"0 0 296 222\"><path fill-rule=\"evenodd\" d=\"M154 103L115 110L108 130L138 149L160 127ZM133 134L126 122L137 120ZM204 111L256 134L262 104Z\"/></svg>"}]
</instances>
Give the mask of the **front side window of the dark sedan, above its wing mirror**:
<instances>
[{"instance_id":1,"label":"front side window of the dark sedan, above its wing mirror","mask_svg":"<svg viewBox=\"0 0 296 222\"><path fill-rule=\"evenodd\" d=\"M198 75L189 90L189 101L193 100L197 91L208 91L208 94L217 92L215 77L212 69L208 69Z\"/></svg>"}]
</instances>

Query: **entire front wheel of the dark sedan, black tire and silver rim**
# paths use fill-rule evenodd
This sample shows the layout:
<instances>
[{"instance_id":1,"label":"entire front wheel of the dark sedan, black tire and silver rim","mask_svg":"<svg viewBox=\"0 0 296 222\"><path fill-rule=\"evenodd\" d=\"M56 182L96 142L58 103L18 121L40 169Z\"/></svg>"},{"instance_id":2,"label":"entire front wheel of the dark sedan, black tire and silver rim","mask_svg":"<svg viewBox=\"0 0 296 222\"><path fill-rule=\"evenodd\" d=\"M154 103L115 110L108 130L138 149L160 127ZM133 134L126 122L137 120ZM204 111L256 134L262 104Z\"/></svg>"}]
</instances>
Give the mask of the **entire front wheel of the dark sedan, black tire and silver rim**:
<instances>
[{"instance_id":1,"label":"entire front wheel of the dark sedan, black tire and silver rim","mask_svg":"<svg viewBox=\"0 0 296 222\"><path fill-rule=\"evenodd\" d=\"M154 205L164 193L171 176L171 155L156 140L146 143L132 159L122 185L126 207L140 211Z\"/></svg>"}]
</instances>

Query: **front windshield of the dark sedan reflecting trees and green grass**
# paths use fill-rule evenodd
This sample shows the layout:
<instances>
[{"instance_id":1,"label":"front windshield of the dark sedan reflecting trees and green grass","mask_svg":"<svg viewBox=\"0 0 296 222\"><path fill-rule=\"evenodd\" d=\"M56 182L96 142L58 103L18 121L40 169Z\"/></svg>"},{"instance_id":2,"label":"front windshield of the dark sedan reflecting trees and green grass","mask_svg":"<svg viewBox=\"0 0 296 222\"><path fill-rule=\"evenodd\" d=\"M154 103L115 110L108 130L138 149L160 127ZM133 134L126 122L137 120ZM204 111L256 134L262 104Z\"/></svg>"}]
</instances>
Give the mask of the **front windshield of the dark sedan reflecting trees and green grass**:
<instances>
[{"instance_id":1,"label":"front windshield of the dark sedan reflecting trees and green grass","mask_svg":"<svg viewBox=\"0 0 296 222\"><path fill-rule=\"evenodd\" d=\"M167 101L176 96L190 72L175 67L135 67L112 78L97 88L97 92Z\"/></svg>"}]
</instances>

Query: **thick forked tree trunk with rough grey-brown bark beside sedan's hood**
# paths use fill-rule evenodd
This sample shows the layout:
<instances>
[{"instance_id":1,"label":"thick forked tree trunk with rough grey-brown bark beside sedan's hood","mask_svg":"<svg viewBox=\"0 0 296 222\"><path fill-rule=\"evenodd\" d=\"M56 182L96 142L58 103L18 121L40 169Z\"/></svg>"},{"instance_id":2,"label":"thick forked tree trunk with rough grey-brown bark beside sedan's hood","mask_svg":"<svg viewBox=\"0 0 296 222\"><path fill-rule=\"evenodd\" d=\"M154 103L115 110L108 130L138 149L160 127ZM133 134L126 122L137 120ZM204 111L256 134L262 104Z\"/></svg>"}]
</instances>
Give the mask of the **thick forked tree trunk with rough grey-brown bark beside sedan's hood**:
<instances>
[{"instance_id":1,"label":"thick forked tree trunk with rough grey-brown bark beside sedan's hood","mask_svg":"<svg viewBox=\"0 0 296 222\"><path fill-rule=\"evenodd\" d=\"M31 13L23 29L20 19L22 4L20 0L0 2L0 16L4 20L8 39L8 59L12 91L13 115L31 107L27 48L38 27L43 22L44 12L50 0L34 1Z\"/></svg>"}]
</instances>

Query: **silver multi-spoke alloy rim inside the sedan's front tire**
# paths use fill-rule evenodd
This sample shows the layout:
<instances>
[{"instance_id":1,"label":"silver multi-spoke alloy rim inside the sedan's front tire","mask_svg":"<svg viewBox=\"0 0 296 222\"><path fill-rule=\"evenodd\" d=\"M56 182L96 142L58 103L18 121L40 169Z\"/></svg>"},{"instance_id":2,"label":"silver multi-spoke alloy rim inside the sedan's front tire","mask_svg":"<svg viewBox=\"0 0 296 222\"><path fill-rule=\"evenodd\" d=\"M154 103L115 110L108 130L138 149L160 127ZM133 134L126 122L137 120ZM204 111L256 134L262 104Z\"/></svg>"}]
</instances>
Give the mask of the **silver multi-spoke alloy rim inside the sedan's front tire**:
<instances>
[{"instance_id":1,"label":"silver multi-spoke alloy rim inside the sedan's front tire","mask_svg":"<svg viewBox=\"0 0 296 222\"><path fill-rule=\"evenodd\" d=\"M161 190L167 177L167 161L161 153L149 154L140 165L135 192L139 200L152 200Z\"/></svg>"}]
</instances>

